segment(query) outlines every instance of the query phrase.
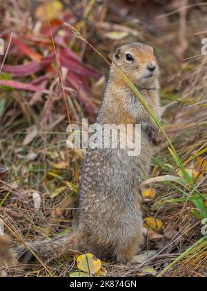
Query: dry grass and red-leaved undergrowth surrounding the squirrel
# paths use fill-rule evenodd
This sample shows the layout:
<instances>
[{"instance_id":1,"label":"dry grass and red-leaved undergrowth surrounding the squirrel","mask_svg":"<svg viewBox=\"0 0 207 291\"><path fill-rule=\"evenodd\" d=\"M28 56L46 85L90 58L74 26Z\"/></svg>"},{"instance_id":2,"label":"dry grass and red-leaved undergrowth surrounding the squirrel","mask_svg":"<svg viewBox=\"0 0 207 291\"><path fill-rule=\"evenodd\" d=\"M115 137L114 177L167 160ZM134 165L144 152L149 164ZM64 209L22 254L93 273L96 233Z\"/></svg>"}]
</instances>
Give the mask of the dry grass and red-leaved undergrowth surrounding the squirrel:
<instances>
[{"instance_id":1,"label":"dry grass and red-leaved undergrowth surrounding the squirrel","mask_svg":"<svg viewBox=\"0 0 207 291\"><path fill-rule=\"evenodd\" d=\"M25 8L24 4L21 9ZM15 22L19 19L19 12L12 9L10 3L2 6L10 15L3 21L3 29L15 28L17 33L14 35L15 46L11 44L6 60L6 65L14 64L14 67L5 67L0 75L3 84L0 94L0 160L8 167L7 179L0 179L0 218L6 222L5 231L12 233L17 245L71 231L77 215L83 152L66 149L64 132L68 119L75 123L83 117L91 122L95 120L104 85L103 78L97 82L101 77L97 69L108 71L108 53L114 51L114 46L137 41L135 35L138 31L143 33L138 40L155 46L156 54L161 56L159 63L164 69L160 93L162 105L166 107L162 123L128 77L119 67L117 70L159 128L159 147L152 161L152 178L143 183L143 186L155 187L156 197L144 202L144 213L146 217L162 220L165 228L159 233L152 229L148 231L143 252L148 249L155 255L146 263L119 265L103 262L103 265L108 276L144 276L143 267L147 266L154 268L158 276L206 276L207 239L201 234L201 221L207 218L206 59L201 56L181 61L175 56L177 42L172 42L172 37L179 37L177 15L166 17L166 26L170 30L161 26L157 37L147 26L128 23L127 18L123 21L124 16L119 18L120 15L117 16L119 25L111 26L117 23L110 3L102 6L92 0L88 1L87 7L80 1L73 1L73 4L73 10L67 6L59 12L57 19L40 19L41 30L36 27L36 37L31 37L34 19L27 19L29 26L25 25L27 21ZM201 19L199 23L195 23L197 18ZM204 30L205 19L204 7L188 10L186 56L199 55L202 35L192 37L192 33ZM76 35L64 26L66 21L70 28L76 26L76 29L72 28ZM120 37L117 29L124 30L125 34L129 31L128 36L111 39L109 46L107 37L115 34ZM112 35L111 30L116 30L113 31L115 34ZM6 37L9 41L9 35ZM89 44L85 39L90 39L93 46L85 46L83 42ZM94 48L98 56L93 53ZM43 67L35 71L33 62L37 60L41 60ZM15 67L17 65L20 67ZM57 82L60 77L61 85ZM37 91L30 91L31 84ZM40 86L43 92L38 91ZM40 207L34 201L34 193L37 197L39 193ZM68 276L76 270L73 257L55 262L50 269L39 263L24 268L11 266L8 275Z\"/></svg>"}]
</instances>

